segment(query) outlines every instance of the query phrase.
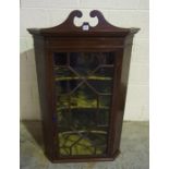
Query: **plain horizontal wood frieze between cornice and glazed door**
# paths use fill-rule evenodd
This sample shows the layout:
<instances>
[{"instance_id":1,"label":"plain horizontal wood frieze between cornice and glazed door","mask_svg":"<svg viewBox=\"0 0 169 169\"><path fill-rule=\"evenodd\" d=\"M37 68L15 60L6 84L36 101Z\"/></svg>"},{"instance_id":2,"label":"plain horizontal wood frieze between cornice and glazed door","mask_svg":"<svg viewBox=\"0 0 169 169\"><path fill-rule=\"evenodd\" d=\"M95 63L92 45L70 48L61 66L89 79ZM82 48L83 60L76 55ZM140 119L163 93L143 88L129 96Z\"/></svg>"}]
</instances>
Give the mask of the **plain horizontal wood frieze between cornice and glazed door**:
<instances>
[{"instance_id":1,"label":"plain horizontal wood frieze between cornice and glazed door","mask_svg":"<svg viewBox=\"0 0 169 169\"><path fill-rule=\"evenodd\" d=\"M79 37L73 38L48 38L47 48L62 50L62 49L96 49L96 50L110 50L112 48L123 48L123 38L89 38L83 40Z\"/></svg>"}]
</instances>

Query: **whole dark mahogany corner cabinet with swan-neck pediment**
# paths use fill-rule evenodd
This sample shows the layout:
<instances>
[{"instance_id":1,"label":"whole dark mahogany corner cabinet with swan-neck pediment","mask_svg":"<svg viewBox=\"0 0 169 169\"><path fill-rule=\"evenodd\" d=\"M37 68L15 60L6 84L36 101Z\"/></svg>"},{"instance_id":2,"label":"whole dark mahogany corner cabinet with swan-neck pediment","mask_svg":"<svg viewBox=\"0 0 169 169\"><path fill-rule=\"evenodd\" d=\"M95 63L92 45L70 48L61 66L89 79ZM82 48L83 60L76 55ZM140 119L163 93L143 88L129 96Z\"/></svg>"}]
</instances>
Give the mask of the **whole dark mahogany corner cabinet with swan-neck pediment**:
<instances>
[{"instance_id":1,"label":"whole dark mahogany corner cabinet with swan-neck pediment","mask_svg":"<svg viewBox=\"0 0 169 169\"><path fill-rule=\"evenodd\" d=\"M28 28L34 37L45 154L52 162L113 160L120 153L133 36L109 24Z\"/></svg>"}]
</instances>

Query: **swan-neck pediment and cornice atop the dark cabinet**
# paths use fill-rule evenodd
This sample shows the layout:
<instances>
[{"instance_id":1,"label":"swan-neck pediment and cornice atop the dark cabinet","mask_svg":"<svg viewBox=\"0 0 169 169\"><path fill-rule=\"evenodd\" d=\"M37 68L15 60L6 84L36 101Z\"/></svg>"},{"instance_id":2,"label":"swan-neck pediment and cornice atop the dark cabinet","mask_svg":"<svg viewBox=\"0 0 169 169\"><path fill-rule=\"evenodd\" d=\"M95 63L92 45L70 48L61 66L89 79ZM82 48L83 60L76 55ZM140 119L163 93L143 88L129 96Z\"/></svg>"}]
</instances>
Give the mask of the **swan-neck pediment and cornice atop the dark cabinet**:
<instances>
[{"instance_id":1,"label":"swan-neck pediment and cornice atop the dark cabinet","mask_svg":"<svg viewBox=\"0 0 169 169\"><path fill-rule=\"evenodd\" d=\"M61 36L61 37L70 37L70 36L79 36L79 37L125 37L129 34L135 34L138 28L121 28L111 25L108 23L102 14L94 10L90 12L92 17L98 19L98 24L95 27L92 27L87 22L83 23L82 26L77 27L74 25L74 17L82 17L81 11L73 11L70 13L69 17L60 25L50 27L50 28L28 28L28 32L33 35L43 35L43 36ZM83 31L83 26L87 25L88 31Z\"/></svg>"}]
</instances>

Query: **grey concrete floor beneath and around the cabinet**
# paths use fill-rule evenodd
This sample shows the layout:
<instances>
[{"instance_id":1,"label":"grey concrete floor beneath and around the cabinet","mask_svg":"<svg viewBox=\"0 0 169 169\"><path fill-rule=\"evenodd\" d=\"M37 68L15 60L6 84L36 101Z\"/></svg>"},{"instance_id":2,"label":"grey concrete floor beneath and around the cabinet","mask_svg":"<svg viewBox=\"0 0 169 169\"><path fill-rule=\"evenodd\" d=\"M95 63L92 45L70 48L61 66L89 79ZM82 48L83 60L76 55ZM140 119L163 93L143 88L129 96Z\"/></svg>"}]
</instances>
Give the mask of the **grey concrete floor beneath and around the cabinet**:
<instances>
[{"instance_id":1,"label":"grey concrete floor beneath and around the cabinet","mask_svg":"<svg viewBox=\"0 0 169 169\"><path fill-rule=\"evenodd\" d=\"M41 125L38 121L21 122L21 169L148 169L148 122L124 122L121 154L114 161L51 164L44 155Z\"/></svg>"}]
</instances>

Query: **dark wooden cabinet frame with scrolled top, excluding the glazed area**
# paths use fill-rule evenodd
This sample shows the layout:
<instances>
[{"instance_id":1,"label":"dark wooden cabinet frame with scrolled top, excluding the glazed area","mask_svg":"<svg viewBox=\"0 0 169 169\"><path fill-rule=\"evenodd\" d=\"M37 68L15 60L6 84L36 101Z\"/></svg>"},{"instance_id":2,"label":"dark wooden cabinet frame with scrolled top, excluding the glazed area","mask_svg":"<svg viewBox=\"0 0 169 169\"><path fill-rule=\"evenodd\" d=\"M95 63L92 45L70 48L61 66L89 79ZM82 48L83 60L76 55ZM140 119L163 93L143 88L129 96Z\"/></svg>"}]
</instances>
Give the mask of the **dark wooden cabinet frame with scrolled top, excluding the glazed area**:
<instances>
[{"instance_id":1,"label":"dark wooden cabinet frame with scrolled top, excluding the glazed area","mask_svg":"<svg viewBox=\"0 0 169 169\"><path fill-rule=\"evenodd\" d=\"M61 24L50 28L28 28L34 37L36 69L43 117L45 154L52 162L113 160L120 153L120 137L124 113L132 41L138 28L121 28L108 23L102 14L94 10L90 17L98 24L87 22L76 27L74 17L82 17L81 11L72 11ZM84 31L87 26L88 31ZM60 157L56 117L56 95L53 76L53 52L114 52L113 88L109 117L108 149L105 156Z\"/></svg>"}]
</instances>

